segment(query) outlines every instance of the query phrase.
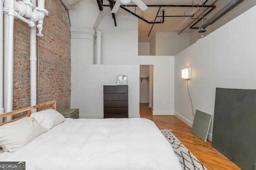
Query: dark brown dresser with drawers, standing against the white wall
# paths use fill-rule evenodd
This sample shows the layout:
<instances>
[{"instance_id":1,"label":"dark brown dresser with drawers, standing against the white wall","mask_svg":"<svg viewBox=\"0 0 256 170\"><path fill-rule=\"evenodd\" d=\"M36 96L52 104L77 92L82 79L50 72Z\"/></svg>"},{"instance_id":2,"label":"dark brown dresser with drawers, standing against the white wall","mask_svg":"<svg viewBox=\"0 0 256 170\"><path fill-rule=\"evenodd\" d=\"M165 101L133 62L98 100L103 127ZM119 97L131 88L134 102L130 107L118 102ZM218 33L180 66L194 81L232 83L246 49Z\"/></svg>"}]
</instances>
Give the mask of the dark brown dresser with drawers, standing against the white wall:
<instances>
[{"instance_id":1,"label":"dark brown dresser with drawers, standing against the white wall","mask_svg":"<svg viewBox=\"0 0 256 170\"><path fill-rule=\"evenodd\" d=\"M128 86L103 86L104 118L128 118Z\"/></svg>"}]
</instances>

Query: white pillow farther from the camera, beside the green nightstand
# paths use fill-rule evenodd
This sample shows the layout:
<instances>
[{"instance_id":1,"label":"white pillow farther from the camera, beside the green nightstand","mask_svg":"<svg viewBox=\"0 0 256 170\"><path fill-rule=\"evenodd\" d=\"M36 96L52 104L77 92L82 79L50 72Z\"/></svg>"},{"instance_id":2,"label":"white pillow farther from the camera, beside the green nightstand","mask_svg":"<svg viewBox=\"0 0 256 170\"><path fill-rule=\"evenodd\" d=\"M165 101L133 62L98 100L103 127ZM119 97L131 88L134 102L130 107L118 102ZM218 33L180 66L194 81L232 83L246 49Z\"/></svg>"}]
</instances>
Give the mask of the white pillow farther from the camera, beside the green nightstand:
<instances>
[{"instance_id":1,"label":"white pillow farther from the camera, beside the green nightstand","mask_svg":"<svg viewBox=\"0 0 256 170\"><path fill-rule=\"evenodd\" d=\"M38 111L36 113L32 113L30 117L33 117L37 123L46 128L48 131L66 120L62 114L54 109Z\"/></svg>"}]
</instances>

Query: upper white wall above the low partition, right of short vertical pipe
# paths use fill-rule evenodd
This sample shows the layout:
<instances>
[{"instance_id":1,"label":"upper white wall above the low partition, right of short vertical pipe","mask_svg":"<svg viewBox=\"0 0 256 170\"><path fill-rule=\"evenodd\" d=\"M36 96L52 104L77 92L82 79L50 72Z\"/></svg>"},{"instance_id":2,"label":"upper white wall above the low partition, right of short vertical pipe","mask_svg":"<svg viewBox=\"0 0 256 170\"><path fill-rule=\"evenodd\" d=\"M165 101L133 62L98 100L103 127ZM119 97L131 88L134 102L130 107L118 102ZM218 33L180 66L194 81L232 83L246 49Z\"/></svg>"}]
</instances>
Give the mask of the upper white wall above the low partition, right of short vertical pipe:
<instances>
[{"instance_id":1,"label":"upper white wall above the low partition, right of short vertical pipe","mask_svg":"<svg viewBox=\"0 0 256 170\"><path fill-rule=\"evenodd\" d=\"M97 27L103 32L102 64L134 64L138 62L138 19L134 16L104 16Z\"/></svg>"}]
</instances>

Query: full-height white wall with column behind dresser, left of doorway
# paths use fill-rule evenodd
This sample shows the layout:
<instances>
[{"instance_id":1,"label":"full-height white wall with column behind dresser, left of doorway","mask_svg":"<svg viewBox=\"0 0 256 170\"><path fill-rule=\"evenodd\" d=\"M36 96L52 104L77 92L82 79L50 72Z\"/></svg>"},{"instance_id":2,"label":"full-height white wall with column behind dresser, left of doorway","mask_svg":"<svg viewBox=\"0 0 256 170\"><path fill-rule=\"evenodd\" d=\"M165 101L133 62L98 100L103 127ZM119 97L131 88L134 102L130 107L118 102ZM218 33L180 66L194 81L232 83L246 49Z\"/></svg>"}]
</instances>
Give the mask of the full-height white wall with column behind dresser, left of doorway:
<instances>
[{"instance_id":1,"label":"full-height white wall with column behind dresser, left of doorway","mask_svg":"<svg viewBox=\"0 0 256 170\"><path fill-rule=\"evenodd\" d=\"M129 20L129 22L127 21ZM102 18L102 64L93 64L93 29L71 27L71 108L80 118L103 118L103 85L116 85L117 75L128 76L129 117L139 115L138 21L130 15ZM132 23L132 25L131 25Z\"/></svg>"}]
</instances>

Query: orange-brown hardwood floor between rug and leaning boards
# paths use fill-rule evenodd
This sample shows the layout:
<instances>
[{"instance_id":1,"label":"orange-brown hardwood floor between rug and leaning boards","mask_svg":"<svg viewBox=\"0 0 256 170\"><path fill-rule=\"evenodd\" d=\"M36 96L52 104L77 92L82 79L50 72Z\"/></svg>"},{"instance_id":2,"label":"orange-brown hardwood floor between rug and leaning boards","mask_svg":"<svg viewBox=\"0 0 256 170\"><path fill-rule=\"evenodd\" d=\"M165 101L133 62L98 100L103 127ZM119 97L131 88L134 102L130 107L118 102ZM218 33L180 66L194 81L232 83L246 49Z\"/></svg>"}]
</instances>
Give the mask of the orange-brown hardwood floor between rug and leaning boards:
<instances>
[{"instance_id":1,"label":"orange-brown hardwood floor between rug and leaning boards","mask_svg":"<svg viewBox=\"0 0 256 170\"><path fill-rule=\"evenodd\" d=\"M191 127L175 116L152 115L151 108L140 108L140 117L154 121L159 129L171 129L172 133L200 160L208 170L241 170L231 160L191 132Z\"/></svg>"}]
</instances>

